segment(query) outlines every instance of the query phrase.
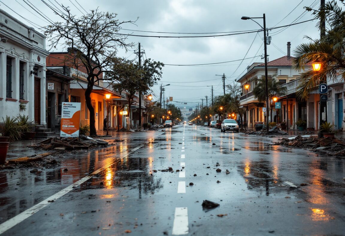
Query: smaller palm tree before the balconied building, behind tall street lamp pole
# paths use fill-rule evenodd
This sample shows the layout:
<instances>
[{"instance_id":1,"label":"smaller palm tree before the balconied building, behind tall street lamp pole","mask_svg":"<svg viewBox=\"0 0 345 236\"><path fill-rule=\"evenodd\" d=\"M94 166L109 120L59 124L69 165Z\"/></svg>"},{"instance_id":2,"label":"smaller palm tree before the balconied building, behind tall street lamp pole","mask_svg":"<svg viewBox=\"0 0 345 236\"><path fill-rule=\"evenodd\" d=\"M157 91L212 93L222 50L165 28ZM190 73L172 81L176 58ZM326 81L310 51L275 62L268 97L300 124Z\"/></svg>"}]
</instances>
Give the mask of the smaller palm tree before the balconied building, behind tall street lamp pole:
<instances>
[{"instance_id":1,"label":"smaller palm tree before the balconied building, behind tall street lamp pole","mask_svg":"<svg viewBox=\"0 0 345 236\"><path fill-rule=\"evenodd\" d=\"M280 82L277 81L274 77L268 78L268 100L272 100L273 97L280 97L286 94L287 88L280 87ZM261 77L259 79L258 84L253 89L254 96L258 99L259 102L266 101L266 79L265 77ZM272 120L272 107L273 104L270 104L271 107L271 120Z\"/></svg>"}]
</instances>

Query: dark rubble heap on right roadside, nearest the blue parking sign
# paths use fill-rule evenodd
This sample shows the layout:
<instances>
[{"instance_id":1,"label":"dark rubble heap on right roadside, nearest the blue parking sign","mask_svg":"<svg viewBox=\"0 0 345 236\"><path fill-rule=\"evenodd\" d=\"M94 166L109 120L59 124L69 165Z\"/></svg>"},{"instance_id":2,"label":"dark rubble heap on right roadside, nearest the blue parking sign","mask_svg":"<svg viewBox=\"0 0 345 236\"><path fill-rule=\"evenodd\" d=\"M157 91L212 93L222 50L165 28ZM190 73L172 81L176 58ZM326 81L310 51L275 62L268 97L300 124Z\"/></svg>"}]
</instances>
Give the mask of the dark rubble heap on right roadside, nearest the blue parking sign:
<instances>
[{"instance_id":1,"label":"dark rubble heap on right roadside, nearest the blue parking sign","mask_svg":"<svg viewBox=\"0 0 345 236\"><path fill-rule=\"evenodd\" d=\"M345 140L336 138L318 138L317 136L298 135L292 138L282 138L274 145L286 147L308 148L328 156L345 156Z\"/></svg>"}]
</instances>

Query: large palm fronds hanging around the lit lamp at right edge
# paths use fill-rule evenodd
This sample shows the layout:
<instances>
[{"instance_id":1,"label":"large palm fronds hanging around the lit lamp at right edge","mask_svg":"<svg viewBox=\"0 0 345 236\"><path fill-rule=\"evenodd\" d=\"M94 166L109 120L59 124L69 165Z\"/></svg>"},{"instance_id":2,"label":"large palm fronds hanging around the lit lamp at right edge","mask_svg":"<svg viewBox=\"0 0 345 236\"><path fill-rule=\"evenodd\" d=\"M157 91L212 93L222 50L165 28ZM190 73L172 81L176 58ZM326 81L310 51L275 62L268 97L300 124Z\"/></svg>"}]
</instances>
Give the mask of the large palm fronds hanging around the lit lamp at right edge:
<instances>
[{"instance_id":1,"label":"large palm fronds hanging around the lit lamp at right edge","mask_svg":"<svg viewBox=\"0 0 345 236\"><path fill-rule=\"evenodd\" d=\"M342 2L342 1L341 1ZM345 3L341 3L345 6ZM345 79L345 11L338 6L336 1L327 2L324 9L313 10L315 19L318 20L317 27L321 29L320 19L327 19L329 29L321 40L308 38L311 42L303 43L294 50L294 68L302 70L311 62L321 62L321 70L315 72L308 70L300 74L300 82L296 95L300 100L307 100L309 92L314 90L322 80L329 78Z\"/></svg>"}]
</instances>

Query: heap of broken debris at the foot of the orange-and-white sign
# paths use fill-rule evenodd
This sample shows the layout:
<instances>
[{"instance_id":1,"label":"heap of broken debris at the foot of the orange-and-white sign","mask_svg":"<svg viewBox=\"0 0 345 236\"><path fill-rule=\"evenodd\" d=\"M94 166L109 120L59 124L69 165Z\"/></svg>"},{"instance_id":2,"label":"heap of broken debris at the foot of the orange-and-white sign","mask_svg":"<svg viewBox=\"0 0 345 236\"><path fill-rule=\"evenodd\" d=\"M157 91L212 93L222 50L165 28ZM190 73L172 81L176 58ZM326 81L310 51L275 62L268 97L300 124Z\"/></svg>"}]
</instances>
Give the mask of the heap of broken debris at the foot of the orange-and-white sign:
<instances>
[{"instance_id":1,"label":"heap of broken debris at the foot of the orange-and-white sign","mask_svg":"<svg viewBox=\"0 0 345 236\"><path fill-rule=\"evenodd\" d=\"M81 135L80 138L48 138L30 145L29 147L42 148L45 150L75 150L105 145L108 145L108 142Z\"/></svg>"}]
</instances>

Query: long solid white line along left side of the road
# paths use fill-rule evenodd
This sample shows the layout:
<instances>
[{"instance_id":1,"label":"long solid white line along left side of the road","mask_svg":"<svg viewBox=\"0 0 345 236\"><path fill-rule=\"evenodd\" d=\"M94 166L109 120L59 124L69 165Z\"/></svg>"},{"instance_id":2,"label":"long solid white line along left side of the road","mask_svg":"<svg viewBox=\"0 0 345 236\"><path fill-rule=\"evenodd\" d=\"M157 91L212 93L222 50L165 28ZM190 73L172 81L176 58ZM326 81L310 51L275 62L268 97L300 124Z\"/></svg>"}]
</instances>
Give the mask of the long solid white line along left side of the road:
<instances>
[{"instance_id":1,"label":"long solid white line along left side of the road","mask_svg":"<svg viewBox=\"0 0 345 236\"><path fill-rule=\"evenodd\" d=\"M159 136L159 135L157 135ZM155 137L156 138L156 137ZM139 148L147 145L148 143L150 143L152 140L154 140L155 138L150 139L150 141L146 142L143 145L140 145L139 147L136 147L134 149L132 149L127 155L126 157L128 157L130 154L134 153L136 150L138 150ZM126 150L124 150L126 151ZM98 170L93 171L91 174L89 174L88 176L85 176L84 178L78 180L76 183L71 184L70 186L62 189L61 191L59 191L58 193L48 197L47 199L41 201L40 203L30 207L27 210L24 210L22 213L14 216L13 218L5 221L4 223L2 223L0 225L0 234L6 232L8 229L16 226L17 224L19 224L20 222L22 222L23 220L29 218L30 216L32 216L33 214L37 213L39 210L41 210L42 208L48 206L50 203L52 203L53 201L57 200L58 198L62 197L63 195L69 193L70 191L72 191L74 188L78 187L79 185L81 185L82 183L84 183L85 181L87 181L88 179L92 178L94 175L100 173L101 171L105 170L106 168L109 168L110 166L116 164L116 162L111 163L110 165L107 165L106 167L102 167L99 168ZM186 184L184 184L186 185ZM186 193L186 188L185 188L185 193Z\"/></svg>"}]
</instances>

